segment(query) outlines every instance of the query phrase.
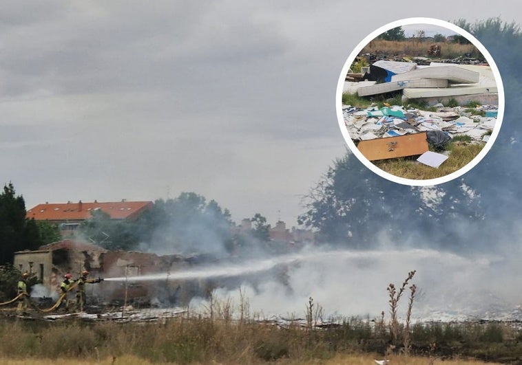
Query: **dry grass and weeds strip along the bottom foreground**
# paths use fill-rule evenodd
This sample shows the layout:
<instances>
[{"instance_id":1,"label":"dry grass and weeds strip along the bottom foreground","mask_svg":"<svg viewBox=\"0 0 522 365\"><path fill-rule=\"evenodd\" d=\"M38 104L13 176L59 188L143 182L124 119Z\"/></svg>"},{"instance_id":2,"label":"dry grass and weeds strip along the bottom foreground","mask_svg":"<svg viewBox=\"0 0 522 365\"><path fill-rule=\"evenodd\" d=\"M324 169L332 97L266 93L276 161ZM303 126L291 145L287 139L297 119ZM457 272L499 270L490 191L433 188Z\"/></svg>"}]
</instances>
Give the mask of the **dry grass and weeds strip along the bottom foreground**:
<instances>
[{"instance_id":1,"label":"dry grass and weeds strip along the bottom foreground","mask_svg":"<svg viewBox=\"0 0 522 365\"><path fill-rule=\"evenodd\" d=\"M4 319L0 364L375 364L386 358L392 365L449 365L516 360L522 353L521 332L507 324L415 324L404 355L403 326L393 340L388 323L371 323L349 318L315 329L198 316L163 323Z\"/></svg>"}]
</instances>

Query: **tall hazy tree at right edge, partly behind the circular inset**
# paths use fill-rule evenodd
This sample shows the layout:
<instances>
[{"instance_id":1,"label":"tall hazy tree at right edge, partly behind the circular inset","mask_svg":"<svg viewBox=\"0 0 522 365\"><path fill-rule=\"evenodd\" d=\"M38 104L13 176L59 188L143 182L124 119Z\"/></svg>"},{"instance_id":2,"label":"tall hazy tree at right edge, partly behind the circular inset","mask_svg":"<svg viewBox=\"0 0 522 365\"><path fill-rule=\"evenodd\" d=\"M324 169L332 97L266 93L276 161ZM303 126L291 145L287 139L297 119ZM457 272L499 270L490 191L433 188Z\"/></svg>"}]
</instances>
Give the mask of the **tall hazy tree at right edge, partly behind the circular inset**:
<instances>
[{"instance_id":1,"label":"tall hazy tree at right edge, partly behind the circular inset","mask_svg":"<svg viewBox=\"0 0 522 365\"><path fill-rule=\"evenodd\" d=\"M477 21L469 30L488 49L499 67L506 107L497 140L486 157L464 175L465 181L481 195L483 212L488 219L489 232L481 239L498 242L502 232L513 234L512 240L518 242L522 173L514 162L522 154L522 128L516 122L522 113L522 76L519 72L522 32L516 23L499 18Z\"/></svg>"}]
</instances>

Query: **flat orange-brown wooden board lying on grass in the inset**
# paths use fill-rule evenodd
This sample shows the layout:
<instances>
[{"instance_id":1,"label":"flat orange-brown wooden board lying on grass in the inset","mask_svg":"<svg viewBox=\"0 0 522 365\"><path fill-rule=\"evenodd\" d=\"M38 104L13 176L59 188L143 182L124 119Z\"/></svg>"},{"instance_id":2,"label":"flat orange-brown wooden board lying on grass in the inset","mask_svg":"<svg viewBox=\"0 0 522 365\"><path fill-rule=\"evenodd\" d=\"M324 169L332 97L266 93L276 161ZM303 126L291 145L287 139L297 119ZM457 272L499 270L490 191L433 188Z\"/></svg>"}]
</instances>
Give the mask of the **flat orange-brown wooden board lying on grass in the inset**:
<instances>
[{"instance_id":1,"label":"flat orange-brown wooden board lying on grass in the inset","mask_svg":"<svg viewBox=\"0 0 522 365\"><path fill-rule=\"evenodd\" d=\"M357 148L369 161L421 155L428 151L426 133L361 141Z\"/></svg>"}]
</instances>

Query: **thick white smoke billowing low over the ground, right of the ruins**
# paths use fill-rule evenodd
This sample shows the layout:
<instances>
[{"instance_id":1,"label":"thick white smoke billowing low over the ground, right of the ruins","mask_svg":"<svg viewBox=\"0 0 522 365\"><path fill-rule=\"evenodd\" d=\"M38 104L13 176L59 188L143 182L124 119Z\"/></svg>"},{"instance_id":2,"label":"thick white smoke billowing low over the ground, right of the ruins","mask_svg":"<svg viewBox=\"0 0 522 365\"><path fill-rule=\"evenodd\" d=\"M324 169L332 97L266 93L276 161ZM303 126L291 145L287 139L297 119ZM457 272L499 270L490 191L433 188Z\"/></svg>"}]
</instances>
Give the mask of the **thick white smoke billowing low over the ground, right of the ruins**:
<instances>
[{"instance_id":1,"label":"thick white smoke billowing low over the ground, right of the ruins","mask_svg":"<svg viewBox=\"0 0 522 365\"><path fill-rule=\"evenodd\" d=\"M309 252L310 254L310 252ZM514 262L501 256L459 256L435 250L316 252L289 263L286 280L242 284L253 313L303 317L309 297L326 315L378 317L388 313L388 284L400 287L408 272L417 270L409 285L417 285L415 318L488 316L521 304ZM507 278L513 278L512 280ZM399 302L406 312L409 285ZM239 289L216 289L217 300L240 302ZM209 302L194 298L191 307ZM400 313L399 313L400 315Z\"/></svg>"}]
</instances>

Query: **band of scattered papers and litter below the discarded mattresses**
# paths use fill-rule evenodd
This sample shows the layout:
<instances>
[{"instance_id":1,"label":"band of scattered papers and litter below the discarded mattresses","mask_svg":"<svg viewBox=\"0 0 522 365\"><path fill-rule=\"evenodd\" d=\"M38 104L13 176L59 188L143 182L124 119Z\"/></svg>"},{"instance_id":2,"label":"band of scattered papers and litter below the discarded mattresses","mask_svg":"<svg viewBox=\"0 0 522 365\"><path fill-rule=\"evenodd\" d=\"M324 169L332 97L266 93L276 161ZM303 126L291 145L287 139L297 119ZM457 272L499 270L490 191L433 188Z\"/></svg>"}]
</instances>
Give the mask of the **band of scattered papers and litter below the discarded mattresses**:
<instances>
[{"instance_id":1,"label":"band of scattered papers and litter below the discarded mattresses","mask_svg":"<svg viewBox=\"0 0 522 365\"><path fill-rule=\"evenodd\" d=\"M497 122L497 105L477 105L475 113L466 107L435 107L437 111L399 105L380 109L375 104L366 109L343 105L342 112L346 129L355 142L424 131L442 131L450 138L468 135L474 142L487 142Z\"/></svg>"}]
</instances>

